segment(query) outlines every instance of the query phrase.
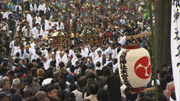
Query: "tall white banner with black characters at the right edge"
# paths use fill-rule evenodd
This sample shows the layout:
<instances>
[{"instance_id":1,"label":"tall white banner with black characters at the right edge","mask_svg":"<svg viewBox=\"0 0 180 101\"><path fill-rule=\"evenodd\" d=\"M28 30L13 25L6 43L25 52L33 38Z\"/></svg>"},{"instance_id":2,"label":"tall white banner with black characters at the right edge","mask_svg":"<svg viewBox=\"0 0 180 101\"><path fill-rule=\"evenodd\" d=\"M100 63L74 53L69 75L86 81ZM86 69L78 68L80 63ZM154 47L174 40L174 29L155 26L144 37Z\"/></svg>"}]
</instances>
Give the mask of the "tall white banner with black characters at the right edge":
<instances>
[{"instance_id":1,"label":"tall white banner with black characters at the right edge","mask_svg":"<svg viewBox=\"0 0 180 101\"><path fill-rule=\"evenodd\" d=\"M171 7L171 61L176 101L180 101L180 0L172 0Z\"/></svg>"}]
</instances>

